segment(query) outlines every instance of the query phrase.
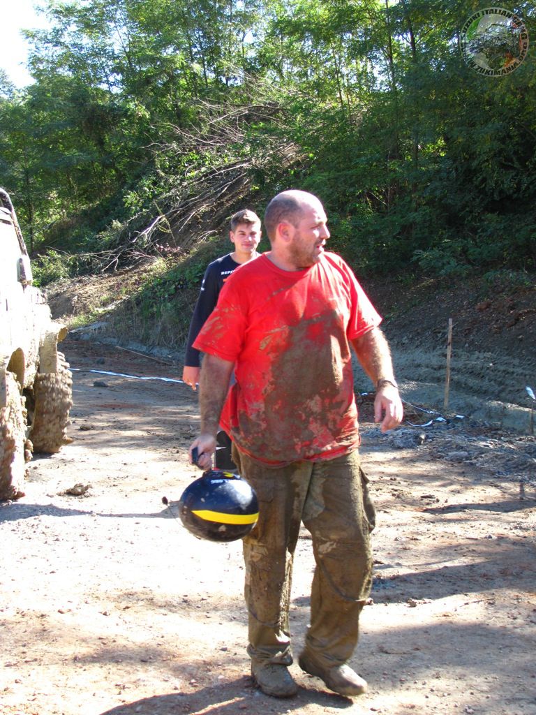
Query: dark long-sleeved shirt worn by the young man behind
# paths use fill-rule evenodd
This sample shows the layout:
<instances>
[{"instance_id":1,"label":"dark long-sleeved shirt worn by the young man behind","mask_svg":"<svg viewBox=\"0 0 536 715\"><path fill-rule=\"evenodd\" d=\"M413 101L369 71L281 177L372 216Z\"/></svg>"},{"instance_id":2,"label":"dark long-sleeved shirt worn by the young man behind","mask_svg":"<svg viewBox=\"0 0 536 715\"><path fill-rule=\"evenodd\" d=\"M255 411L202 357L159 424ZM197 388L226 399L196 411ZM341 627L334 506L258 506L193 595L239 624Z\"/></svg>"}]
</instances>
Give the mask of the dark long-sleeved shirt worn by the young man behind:
<instances>
[{"instance_id":1,"label":"dark long-sleeved shirt worn by the young man behind","mask_svg":"<svg viewBox=\"0 0 536 715\"><path fill-rule=\"evenodd\" d=\"M186 356L184 365L189 368L199 368L199 350L192 347L194 340L197 337L199 330L204 325L207 317L212 313L218 302L219 292L222 290L224 282L229 275L239 267L239 263L232 259L231 254L217 258L212 263L209 263L207 270L204 272L201 290L199 297L194 307L194 315L190 322L188 331L188 340L186 345Z\"/></svg>"}]
</instances>

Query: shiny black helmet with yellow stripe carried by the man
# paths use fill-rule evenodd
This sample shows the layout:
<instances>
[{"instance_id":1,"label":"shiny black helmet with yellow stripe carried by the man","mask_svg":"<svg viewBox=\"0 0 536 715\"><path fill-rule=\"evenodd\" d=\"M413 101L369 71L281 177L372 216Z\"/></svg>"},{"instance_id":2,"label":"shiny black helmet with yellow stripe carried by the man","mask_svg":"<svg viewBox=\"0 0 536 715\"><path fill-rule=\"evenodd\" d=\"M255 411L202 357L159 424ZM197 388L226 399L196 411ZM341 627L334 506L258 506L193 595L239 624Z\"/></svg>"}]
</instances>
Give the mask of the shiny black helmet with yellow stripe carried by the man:
<instances>
[{"instance_id":1,"label":"shiny black helmet with yellow stripe carried by the man","mask_svg":"<svg viewBox=\"0 0 536 715\"><path fill-rule=\"evenodd\" d=\"M179 516L197 538L236 541L257 523L257 495L246 480L210 469L189 484L179 499Z\"/></svg>"}]
</instances>

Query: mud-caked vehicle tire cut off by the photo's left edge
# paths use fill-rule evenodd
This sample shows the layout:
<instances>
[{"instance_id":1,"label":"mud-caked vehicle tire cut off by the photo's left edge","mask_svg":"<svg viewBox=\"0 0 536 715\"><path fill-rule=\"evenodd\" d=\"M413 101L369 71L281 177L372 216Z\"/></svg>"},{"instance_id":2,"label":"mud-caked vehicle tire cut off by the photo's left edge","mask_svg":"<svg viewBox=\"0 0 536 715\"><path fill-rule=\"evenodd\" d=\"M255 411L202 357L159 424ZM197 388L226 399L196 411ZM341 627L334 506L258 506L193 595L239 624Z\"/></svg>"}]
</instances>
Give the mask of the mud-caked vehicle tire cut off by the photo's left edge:
<instances>
[{"instance_id":1,"label":"mud-caked vehicle tire cut off by the photo's left edge","mask_svg":"<svg viewBox=\"0 0 536 715\"><path fill-rule=\"evenodd\" d=\"M24 496L26 408L13 373L6 373L6 407L0 408L0 500Z\"/></svg>"}]
</instances>

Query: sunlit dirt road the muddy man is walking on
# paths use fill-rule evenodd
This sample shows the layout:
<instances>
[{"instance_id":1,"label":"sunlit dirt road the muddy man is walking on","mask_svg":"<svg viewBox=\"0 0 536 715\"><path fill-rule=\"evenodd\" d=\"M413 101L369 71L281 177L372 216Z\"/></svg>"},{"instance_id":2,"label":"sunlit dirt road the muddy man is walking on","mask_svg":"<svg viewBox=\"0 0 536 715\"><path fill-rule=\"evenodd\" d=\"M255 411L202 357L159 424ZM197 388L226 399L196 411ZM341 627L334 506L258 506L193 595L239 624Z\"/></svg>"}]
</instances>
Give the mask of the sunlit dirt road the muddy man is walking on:
<instances>
[{"instance_id":1,"label":"sunlit dirt road the muddy man is walking on","mask_svg":"<svg viewBox=\"0 0 536 715\"><path fill-rule=\"evenodd\" d=\"M249 677L240 543L198 541L162 505L187 463L196 396L154 360L65 344L74 442L34 458L0 506L1 715L529 715L536 713L536 445L476 424L405 426L363 449L378 508L354 701L292 672L270 699ZM79 485L75 488L75 485ZM173 506L173 505L172 505ZM299 539L292 630L307 626Z\"/></svg>"}]
</instances>

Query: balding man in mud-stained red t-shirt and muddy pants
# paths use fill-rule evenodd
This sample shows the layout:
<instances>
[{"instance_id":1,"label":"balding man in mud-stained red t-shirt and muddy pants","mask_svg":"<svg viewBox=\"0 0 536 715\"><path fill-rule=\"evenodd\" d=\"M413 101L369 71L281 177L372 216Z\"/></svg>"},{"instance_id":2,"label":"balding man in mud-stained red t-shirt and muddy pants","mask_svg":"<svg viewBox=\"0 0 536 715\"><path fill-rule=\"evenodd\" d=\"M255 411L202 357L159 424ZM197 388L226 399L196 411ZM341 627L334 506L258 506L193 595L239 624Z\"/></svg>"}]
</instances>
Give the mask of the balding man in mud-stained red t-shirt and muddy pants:
<instances>
[{"instance_id":1,"label":"balding man in mud-stained red t-shirt and muddy pants","mask_svg":"<svg viewBox=\"0 0 536 715\"><path fill-rule=\"evenodd\" d=\"M199 465L209 468L221 421L239 473L259 498L259 521L244 538L244 593L260 689L277 697L297 692L287 667L288 616L304 523L317 566L299 666L354 696L367 686L347 661L372 583L374 507L359 465L351 346L376 385L382 431L400 423L402 402L381 318L347 264L324 252L329 231L319 199L282 192L264 225L271 250L229 277L194 343L205 355L201 434L190 453L197 447Z\"/></svg>"}]
</instances>

